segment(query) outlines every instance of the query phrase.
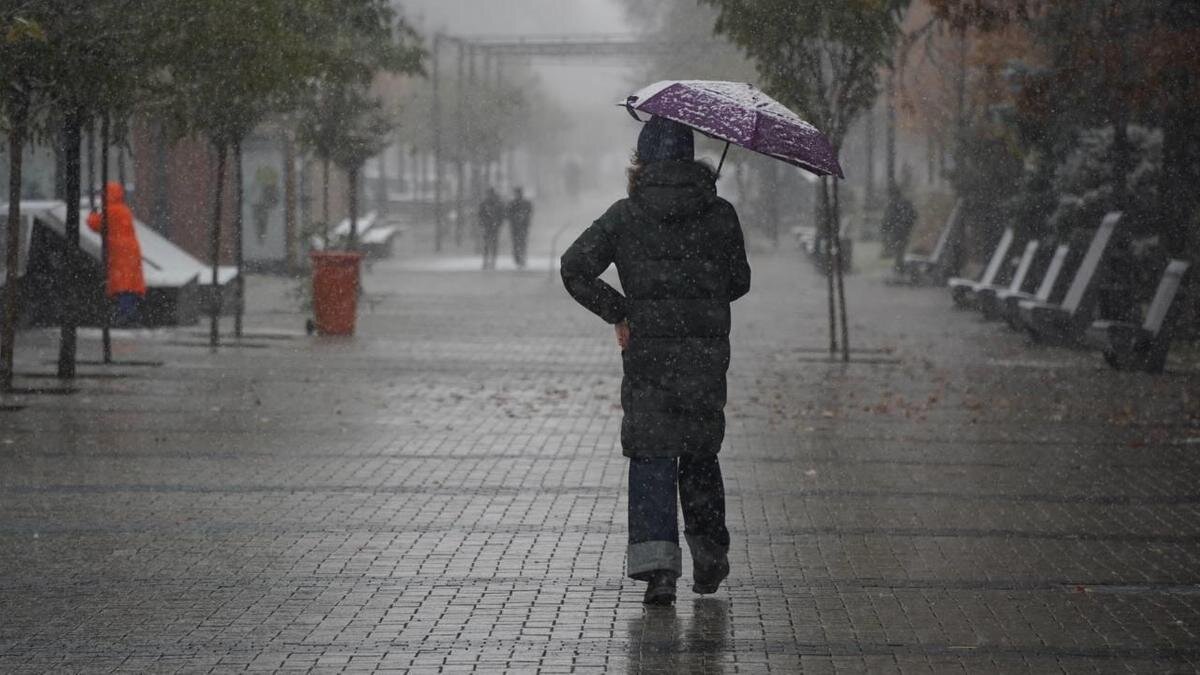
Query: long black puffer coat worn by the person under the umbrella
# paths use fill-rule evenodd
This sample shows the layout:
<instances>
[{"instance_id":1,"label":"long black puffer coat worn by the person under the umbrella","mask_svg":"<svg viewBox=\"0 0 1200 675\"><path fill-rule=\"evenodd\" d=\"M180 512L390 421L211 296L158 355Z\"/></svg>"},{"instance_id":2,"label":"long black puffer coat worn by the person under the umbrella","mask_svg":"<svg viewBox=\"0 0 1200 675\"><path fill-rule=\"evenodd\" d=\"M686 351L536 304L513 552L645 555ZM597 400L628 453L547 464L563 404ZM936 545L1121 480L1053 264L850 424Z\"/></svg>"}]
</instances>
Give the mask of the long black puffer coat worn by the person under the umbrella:
<instances>
[{"instance_id":1,"label":"long black puffer coat worn by the person under the umbrella","mask_svg":"<svg viewBox=\"0 0 1200 675\"><path fill-rule=\"evenodd\" d=\"M599 276L616 263L624 294ZM608 323L628 321L625 456L715 454L725 437L730 303L750 291L742 226L710 168L648 165L562 259L563 282Z\"/></svg>"}]
</instances>

